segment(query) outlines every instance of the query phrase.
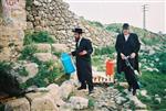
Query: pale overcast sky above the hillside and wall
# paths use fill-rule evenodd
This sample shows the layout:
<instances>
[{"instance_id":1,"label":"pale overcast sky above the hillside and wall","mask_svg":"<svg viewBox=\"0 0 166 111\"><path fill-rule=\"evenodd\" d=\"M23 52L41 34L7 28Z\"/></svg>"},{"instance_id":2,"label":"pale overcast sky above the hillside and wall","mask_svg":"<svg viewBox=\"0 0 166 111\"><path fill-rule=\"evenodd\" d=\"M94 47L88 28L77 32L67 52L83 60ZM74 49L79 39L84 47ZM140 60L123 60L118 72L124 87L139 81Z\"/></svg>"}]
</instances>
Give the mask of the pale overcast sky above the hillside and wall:
<instances>
[{"instance_id":1,"label":"pale overcast sky above the hillside and wall","mask_svg":"<svg viewBox=\"0 0 166 111\"><path fill-rule=\"evenodd\" d=\"M166 33L166 0L64 0L70 10L104 24L129 23L143 27L143 4L148 4L146 27Z\"/></svg>"}]
</instances>

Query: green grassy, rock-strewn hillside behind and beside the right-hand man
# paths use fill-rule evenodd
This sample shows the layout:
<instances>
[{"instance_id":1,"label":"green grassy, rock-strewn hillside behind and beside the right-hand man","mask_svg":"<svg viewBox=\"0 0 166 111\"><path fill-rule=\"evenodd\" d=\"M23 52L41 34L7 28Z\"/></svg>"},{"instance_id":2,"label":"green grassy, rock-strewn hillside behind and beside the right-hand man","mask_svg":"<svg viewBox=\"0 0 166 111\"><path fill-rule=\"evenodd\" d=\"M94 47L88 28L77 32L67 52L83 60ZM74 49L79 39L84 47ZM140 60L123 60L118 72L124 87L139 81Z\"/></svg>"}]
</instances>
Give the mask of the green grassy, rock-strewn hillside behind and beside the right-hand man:
<instances>
[{"instance_id":1,"label":"green grassy, rock-strewn hillside behind and beside the right-hand man","mask_svg":"<svg viewBox=\"0 0 166 111\"><path fill-rule=\"evenodd\" d=\"M92 22L90 24L111 32L116 38L116 35L122 31L122 23L101 24L100 22ZM131 26L131 32L138 35L142 46L139 51L139 66L142 77L139 78L142 91L145 95L139 95L138 98L148 106L148 110L163 111L166 109L165 80L166 80L166 36L151 31L144 31L139 27ZM102 55L114 54L114 47L102 48L98 52ZM98 55L101 56L101 55ZM114 58L114 56L111 56ZM104 59L103 59L104 60ZM102 60L95 60L98 66ZM98 66L100 70L104 70ZM121 75L123 76L123 75ZM124 77L122 77L124 81ZM141 91L141 92L142 92ZM163 98L163 99L162 99Z\"/></svg>"}]
</instances>

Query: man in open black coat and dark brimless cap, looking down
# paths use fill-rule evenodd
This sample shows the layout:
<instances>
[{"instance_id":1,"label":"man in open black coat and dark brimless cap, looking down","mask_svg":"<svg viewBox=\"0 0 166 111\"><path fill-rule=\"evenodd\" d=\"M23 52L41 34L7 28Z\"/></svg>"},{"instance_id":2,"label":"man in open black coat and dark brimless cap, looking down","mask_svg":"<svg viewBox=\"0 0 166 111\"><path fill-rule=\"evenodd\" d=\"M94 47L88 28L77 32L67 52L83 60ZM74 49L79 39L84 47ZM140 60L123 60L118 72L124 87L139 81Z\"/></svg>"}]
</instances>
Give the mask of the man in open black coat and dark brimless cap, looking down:
<instances>
[{"instance_id":1,"label":"man in open black coat and dark brimless cap, looking down","mask_svg":"<svg viewBox=\"0 0 166 111\"><path fill-rule=\"evenodd\" d=\"M117 52L117 73L124 71L125 78L128 82L128 91L133 89L133 96L136 95L136 89L139 89L137 84L134 69L138 70L138 51L141 43L138 36L134 33L129 33L129 25L127 23L123 24L123 33L117 35L115 48ZM128 67L125 63L127 59L131 66Z\"/></svg>"}]
</instances>

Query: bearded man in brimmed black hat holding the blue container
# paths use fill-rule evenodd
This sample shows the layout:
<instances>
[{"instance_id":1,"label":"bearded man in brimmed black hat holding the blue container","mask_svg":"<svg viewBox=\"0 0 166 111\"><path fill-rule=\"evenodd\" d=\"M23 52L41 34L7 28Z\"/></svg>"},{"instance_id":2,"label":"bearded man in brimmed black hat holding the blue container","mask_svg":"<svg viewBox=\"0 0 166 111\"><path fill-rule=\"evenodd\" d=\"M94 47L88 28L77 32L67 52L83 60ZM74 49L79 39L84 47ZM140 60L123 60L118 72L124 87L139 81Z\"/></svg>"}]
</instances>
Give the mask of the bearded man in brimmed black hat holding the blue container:
<instances>
[{"instance_id":1,"label":"bearded man in brimmed black hat holding the blue container","mask_svg":"<svg viewBox=\"0 0 166 111\"><path fill-rule=\"evenodd\" d=\"M77 90L86 89L86 84L89 85L89 93L93 92L93 81L92 81L92 65L91 65L91 54L93 53L92 43L90 40L82 37L82 29L74 29L74 37L76 42L76 48L71 55L76 57L76 71L77 78L81 82L81 87Z\"/></svg>"}]
</instances>

